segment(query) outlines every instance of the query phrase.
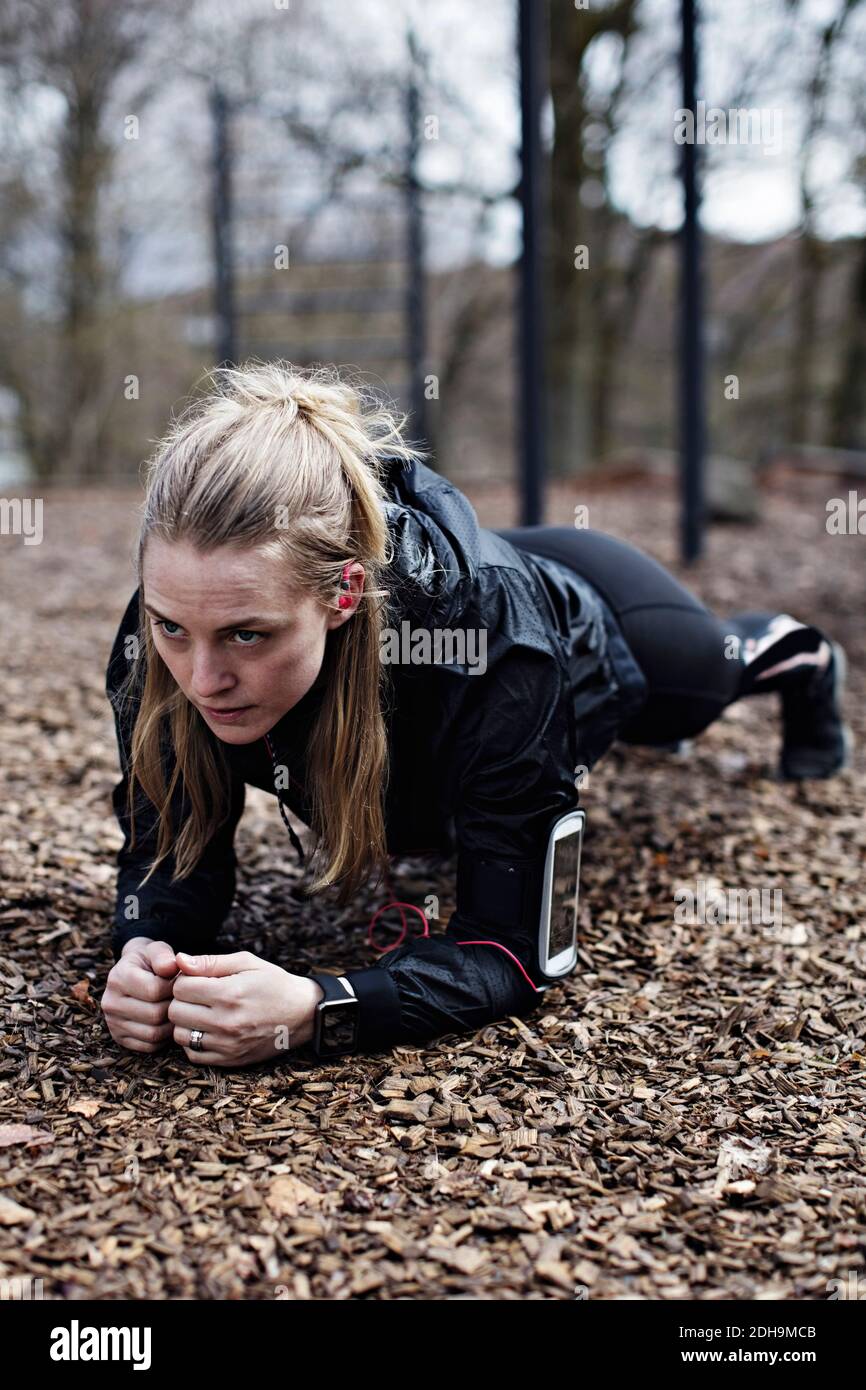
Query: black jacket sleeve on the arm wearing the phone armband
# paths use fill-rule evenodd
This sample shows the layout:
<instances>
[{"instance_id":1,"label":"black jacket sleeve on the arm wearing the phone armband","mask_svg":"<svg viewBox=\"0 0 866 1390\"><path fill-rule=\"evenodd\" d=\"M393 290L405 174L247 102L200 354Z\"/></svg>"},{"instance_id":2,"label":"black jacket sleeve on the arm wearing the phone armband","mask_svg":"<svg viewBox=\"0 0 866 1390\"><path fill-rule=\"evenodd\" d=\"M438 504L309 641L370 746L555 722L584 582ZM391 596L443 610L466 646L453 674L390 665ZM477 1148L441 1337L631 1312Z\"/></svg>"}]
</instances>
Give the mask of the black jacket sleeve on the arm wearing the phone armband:
<instances>
[{"instance_id":1,"label":"black jacket sleeve on the arm wearing the phone armband","mask_svg":"<svg viewBox=\"0 0 866 1390\"><path fill-rule=\"evenodd\" d=\"M489 674L455 749L457 910L443 935L416 937L366 970L343 972L360 1001L361 1052L473 1031L542 998L537 933L548 837L578 799L569 692L552 653L513 648ZM502 885L513 869L530 870L520 929L503 927L478 891L487 873Z\"/></svg>"}]
</instances>

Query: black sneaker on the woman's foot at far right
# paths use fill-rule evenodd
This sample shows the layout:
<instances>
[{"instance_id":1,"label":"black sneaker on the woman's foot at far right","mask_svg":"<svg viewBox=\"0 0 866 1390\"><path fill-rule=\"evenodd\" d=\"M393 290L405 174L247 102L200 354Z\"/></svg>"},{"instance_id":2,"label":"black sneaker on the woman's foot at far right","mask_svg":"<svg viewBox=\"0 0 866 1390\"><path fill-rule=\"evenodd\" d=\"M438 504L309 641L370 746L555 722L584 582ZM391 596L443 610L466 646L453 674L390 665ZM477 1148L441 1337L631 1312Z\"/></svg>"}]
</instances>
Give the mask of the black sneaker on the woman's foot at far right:
<instances>
[{"instance_id":1,"label":"black sneaker on the woman's foot at far right","mask_svg":"<svg viewBox=\"0 0 866 1390\"><path fill-rule=\"evenodd\" d=\"M851 762L853 735L842 720L845 652L833 642L830 662L799 691L783 691L783 749L778 774L785 781L833 777Z\"/></svg>"}]
</instances>

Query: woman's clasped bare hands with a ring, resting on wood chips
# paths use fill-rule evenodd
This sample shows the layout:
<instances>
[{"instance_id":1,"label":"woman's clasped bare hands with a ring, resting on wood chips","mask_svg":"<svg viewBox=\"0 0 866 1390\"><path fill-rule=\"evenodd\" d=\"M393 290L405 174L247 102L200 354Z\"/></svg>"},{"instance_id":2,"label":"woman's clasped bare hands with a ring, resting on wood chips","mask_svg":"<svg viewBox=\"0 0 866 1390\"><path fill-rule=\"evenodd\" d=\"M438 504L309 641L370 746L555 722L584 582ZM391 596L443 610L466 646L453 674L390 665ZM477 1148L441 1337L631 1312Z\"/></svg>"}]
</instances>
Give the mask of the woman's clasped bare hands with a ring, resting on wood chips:
<instances>
[{"instance_id":1,"label":"woman's clasped bare hands with a ring, resting on wood chips","mask_svg":"<svg viewBox=\"0 0 866 1390\"><path fill-rule=\"evenodd\" d=\"M192 956L136 937L108 974L101 1006L111 1037L133 1052L170 1040L190 1062L246 1066L313 1036L321 988L250 951ZM200 1029L202 1049L189 1045Z\"/></svg>"}]
</instances>

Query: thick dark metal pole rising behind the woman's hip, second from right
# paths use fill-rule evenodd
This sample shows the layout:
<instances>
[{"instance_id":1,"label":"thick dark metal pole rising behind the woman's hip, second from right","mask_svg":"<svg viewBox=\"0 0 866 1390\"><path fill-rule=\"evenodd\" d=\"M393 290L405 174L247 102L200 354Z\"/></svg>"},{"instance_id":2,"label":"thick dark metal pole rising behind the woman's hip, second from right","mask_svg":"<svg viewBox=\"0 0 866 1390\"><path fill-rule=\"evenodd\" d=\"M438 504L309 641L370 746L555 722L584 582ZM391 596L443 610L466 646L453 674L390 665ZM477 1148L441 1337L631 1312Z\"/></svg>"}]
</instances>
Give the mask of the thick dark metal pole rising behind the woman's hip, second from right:
<instances>
[{"instance_id":1,"label":"thick dark metal pole rising behind the woman's hip, second from right","mask_svg":"<svg viewBox=\"0 0 866 1390\"><path fill-rule=\"evenodd\" d=\"M520 313L517 359L520 371L520 489L521 525L541 525L546 471L544 399L544 279L542 279L542 167L541 103L545 10L541 0L520 0Z\"/></svg>"}]
</instances>

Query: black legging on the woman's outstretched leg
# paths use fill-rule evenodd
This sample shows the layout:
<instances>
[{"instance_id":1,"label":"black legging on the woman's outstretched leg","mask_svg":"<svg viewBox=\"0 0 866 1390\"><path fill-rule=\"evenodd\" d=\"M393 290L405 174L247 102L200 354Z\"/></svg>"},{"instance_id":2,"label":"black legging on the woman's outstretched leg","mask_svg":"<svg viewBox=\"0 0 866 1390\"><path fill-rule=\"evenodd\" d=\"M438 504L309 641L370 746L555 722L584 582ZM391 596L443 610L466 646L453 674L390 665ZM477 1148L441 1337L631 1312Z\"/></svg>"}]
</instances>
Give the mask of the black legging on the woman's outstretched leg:
<instances>
[{"instance_id":1,"label":"black legging on the woman's outstretched leg","mask_svg":"<svg viewBox=\"0 0 866 1390\"><path fill-rule=\"evenodd\" d=\"M742 644L776 616L735 613L724 621L637 546L603 531L577 527L496 530L512 545L559 560L588 580L613 610L623 637L649 682L639 714L620 731L627 744L674 744L712 724L742 695L781 688L771 677L752 688L751 673L731 659L731 637ZM817 628L802 635L820 641Z\"/></svg>"}]
</instances>

